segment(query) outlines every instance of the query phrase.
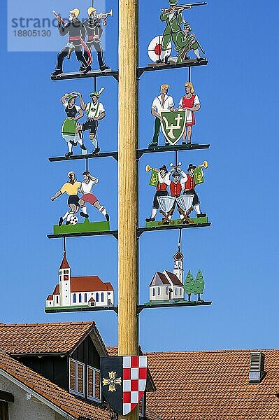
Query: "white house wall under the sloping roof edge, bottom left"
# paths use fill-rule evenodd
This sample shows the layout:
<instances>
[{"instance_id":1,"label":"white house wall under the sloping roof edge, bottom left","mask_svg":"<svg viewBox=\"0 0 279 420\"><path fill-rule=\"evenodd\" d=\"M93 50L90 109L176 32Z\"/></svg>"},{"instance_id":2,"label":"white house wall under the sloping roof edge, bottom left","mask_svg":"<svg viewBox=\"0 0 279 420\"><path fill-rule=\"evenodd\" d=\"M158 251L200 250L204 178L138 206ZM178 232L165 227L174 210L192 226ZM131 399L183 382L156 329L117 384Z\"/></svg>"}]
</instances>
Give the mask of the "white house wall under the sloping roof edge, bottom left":
<instances>
[{"instance_id":1,"label":"white house wall under the sloping roof edge, bottom left","mask_svg":"<svg viewBox=\"0 0 279 420\"><path fill-rule=\"evenodd\" d=\"M0 390L13 394L15 402L8 403L9 420L64 420L50 407L26 399L26 392L0 374Z\"/></svg>"}]
</instances>

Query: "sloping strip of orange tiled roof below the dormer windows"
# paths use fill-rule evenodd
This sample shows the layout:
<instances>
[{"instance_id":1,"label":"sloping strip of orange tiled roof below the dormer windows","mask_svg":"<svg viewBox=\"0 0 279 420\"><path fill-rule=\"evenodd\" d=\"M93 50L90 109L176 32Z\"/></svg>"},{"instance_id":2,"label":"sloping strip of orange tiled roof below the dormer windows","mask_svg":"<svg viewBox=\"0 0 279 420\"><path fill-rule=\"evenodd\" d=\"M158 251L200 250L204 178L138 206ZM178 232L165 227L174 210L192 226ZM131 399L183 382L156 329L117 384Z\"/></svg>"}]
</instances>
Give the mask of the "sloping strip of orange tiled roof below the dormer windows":
<instances>
[{"instance_id":1,"label":"sloping strip of orange tiled roof below the dormer windows","mask_svg":"<svg viewBox=\"0 0 279 420\"><path fill-rule=\"evenodd\" d=\"M1 370L6 372L10 378L17 379L21 384L27 386L31 394L43 397L73 419L110 420L108 409L78 400L0 350L0 375Z\"/></svg>"}]
</instances>

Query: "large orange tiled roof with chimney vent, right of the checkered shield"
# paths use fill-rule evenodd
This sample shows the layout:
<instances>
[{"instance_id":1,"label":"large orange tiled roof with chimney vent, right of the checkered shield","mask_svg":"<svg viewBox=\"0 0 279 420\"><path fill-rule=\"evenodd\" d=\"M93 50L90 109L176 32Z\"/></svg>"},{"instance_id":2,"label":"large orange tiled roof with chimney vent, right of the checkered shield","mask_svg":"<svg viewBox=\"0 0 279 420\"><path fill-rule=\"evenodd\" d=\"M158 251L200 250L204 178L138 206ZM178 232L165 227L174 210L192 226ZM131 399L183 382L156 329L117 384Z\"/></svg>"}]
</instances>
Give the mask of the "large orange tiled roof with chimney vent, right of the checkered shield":
<instances>
[{"instance_id":1,"label":"large orange tiled roof with chimney vent, right of the checkered shield","mask_svg":"<svg viewBox=\"0 0 279 420\"><path fill-rule=\"evenodd\" d=\"M157 388L147 405L162 420L279 419L279 350L263 353L257 385L248 384L248 350L147 353Z\"/></svg>"}]
</instances>

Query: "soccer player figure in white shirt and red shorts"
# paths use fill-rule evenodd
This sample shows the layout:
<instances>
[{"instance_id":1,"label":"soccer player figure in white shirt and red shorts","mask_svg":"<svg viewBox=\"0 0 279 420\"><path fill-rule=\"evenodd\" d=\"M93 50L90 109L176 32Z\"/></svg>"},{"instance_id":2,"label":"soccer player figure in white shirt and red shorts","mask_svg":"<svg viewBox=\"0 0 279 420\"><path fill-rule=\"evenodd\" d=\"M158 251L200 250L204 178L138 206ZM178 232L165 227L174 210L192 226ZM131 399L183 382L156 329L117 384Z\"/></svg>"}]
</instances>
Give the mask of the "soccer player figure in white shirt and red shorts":
<instances>
[{"instance_id":1,"label":"soccer player figure in white shirt and red shorts","mask_svg":"<svg viewBox=\"0 0 279 420\"><path fill-rule=\"evenodd\" d=\"M83 193L82 197L80 197L80 216L89 218L87 213L87 207L86 203L90 203L92 206L94 206L96 209L99 210L103 216L105 216L106 221L110 220L110 216L108 216L105 207L101 206L99 203L97 197L92 194L92 188L93 186L99 182L99 179L95 178L90 174L90 172L86 171L83 172L83 182L81 183L80 191Z\"/></svg>"}]
</instances>

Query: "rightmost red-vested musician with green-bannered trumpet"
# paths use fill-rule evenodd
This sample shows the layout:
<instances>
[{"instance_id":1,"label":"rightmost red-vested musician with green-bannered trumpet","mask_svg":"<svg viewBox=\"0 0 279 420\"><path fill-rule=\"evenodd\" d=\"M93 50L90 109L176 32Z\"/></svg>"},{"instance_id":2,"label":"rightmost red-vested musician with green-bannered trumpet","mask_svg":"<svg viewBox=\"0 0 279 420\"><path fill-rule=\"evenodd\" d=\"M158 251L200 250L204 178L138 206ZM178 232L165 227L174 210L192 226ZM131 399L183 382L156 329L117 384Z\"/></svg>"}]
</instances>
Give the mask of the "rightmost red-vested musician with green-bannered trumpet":
<instances>
[{"instance_id":1,"label":"rightmost red-vested musician with green-bannered trumpet","mask_svg":"<svg viewBox=\"0 0 279 420\"><path fill-rule=\"evenodd\" d=\"M187 181L185 182L185 189L183 192L184 195L194 195L193 206L194 211L196 211L197 218L206 217L206 213L201 213L201 209L199 206L199 196L195 191L196 185L204 182L202 171L203 167L208 167L208 162L206 162L206 160L199 167L192 165L192 163L189 164L189 167L187 169Z\"/></svg>"}]
</instances>

